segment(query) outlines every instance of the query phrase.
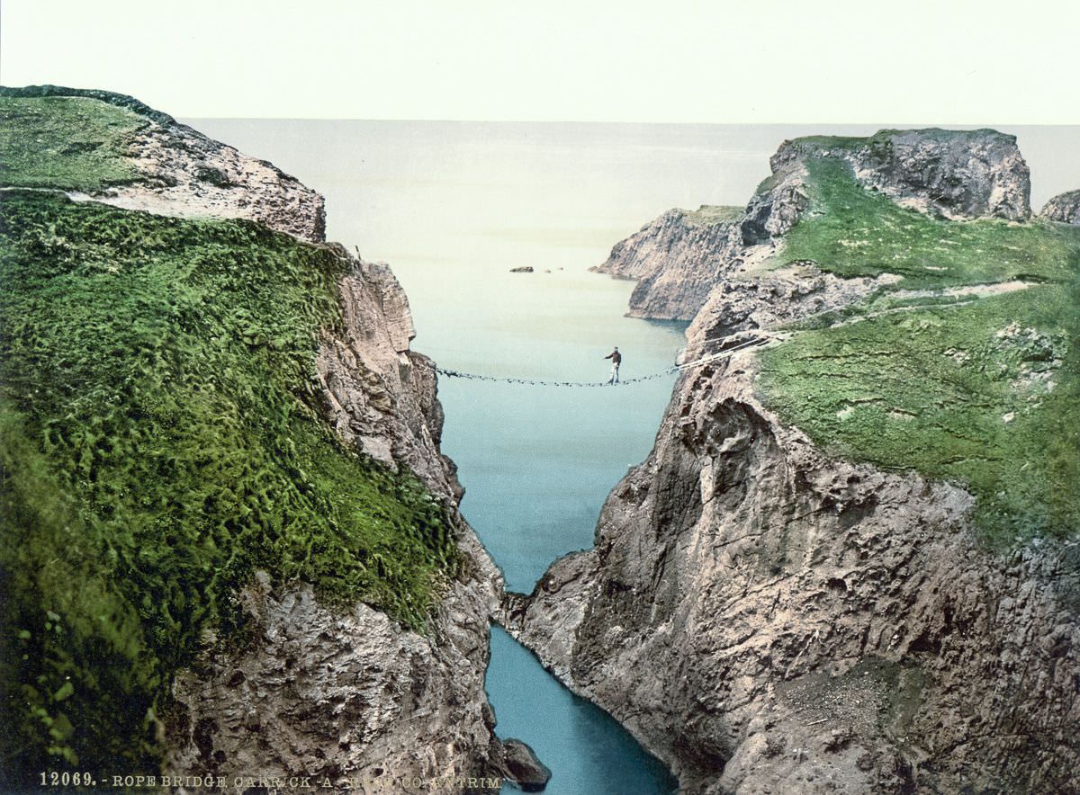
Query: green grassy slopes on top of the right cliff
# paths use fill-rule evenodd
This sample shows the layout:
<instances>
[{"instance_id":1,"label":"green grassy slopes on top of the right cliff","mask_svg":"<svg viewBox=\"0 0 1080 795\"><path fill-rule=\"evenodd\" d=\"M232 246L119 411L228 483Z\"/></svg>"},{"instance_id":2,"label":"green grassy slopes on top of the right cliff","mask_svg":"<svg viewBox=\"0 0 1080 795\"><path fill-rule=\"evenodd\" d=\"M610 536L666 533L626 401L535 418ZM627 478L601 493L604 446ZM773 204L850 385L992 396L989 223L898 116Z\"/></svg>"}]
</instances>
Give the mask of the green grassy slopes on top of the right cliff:
<instances>
[{"instance_id":1,"label":"green grassy slopes on top of the right cliff","mask_svg":"<svg viewBox=\"0 0 1080 795\"><path fill-rule=\"evenodd\" d=\"M762 398L826 451L958 482L995 546L1080 529L1080 229L947 221L811 161L777 264L903 278L761 354ZM945 296L1022 279L1027 289ZM904 296L912 288L929 291Z\"/></svg>"}]
</instances>

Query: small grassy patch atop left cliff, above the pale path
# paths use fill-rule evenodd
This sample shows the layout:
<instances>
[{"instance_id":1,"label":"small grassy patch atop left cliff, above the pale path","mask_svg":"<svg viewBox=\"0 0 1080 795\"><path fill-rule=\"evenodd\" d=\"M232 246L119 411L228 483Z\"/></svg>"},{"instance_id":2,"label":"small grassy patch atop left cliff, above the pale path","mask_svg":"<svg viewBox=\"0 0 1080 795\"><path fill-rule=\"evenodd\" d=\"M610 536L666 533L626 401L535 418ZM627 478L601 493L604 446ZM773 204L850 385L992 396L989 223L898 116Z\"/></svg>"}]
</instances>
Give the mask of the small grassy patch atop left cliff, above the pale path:
<instances>
[{"instance_id":1,"label":"small grassy patch atop left cliff, above the pale path","mask_svg":"<svg viewBox=\"0 0 1080 795\"><path fill-rule=\"evenodd\" d=\"M0 95L0 186L93 192L135 182L132 145L148 123L90 97Z\"/></svg>"}]
</instances>

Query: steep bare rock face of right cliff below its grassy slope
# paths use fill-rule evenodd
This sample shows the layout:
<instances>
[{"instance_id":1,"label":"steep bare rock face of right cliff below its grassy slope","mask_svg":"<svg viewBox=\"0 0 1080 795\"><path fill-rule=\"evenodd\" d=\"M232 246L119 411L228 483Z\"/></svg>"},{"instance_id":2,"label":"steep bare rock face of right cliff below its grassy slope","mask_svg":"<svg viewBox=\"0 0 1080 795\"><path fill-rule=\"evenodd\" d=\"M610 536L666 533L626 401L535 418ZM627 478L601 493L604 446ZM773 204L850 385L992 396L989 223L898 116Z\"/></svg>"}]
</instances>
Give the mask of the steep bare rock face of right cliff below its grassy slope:
<instances>
[{"instance_id":1,"label":"steep bare rock face of right cliff below its grassy slope","mask_svg":"<svg viewBox=\"0 0 1080 795\"><path fill-rule=\"evenodd\" d=\"M686 792L1075 791L1075 546L988 553L966 492L824 456L753 368L683 379L511 632Z\"/></svg>"}]
</instances>

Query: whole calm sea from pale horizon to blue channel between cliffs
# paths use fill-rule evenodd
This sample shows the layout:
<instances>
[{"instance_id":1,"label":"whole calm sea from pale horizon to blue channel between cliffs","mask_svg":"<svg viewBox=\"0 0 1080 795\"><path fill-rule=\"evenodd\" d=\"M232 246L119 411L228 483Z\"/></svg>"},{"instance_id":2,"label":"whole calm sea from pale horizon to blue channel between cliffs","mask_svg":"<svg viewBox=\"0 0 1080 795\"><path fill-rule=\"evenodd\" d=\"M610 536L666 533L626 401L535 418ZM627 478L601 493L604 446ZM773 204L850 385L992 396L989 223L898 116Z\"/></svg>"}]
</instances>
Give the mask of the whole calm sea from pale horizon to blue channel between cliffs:
<instances>
[{"instance_id":1,"label":"whole calm sea from pale horizon to blue channel between cliffs","mask_svg":"<svg viewBox=\"0 0 1080 795\"><path fill-rule=\"evenodd\" d=\"M877 128L191 123L323 193L327 237L392 265L411 303L414 348L441 367L593 383L607 380L604 357L616 345L623 379L662 372L683 345L677 324L623 316L631 283L589 272L615 242L670 207L744 204L784 138ZM1031 164L1037 206L1080 186L1080 157L1065 146L1077 128L1007 132L1018 134ZM534 271L511 273L522 266ZM509 589L530 591L555 558L591 546L607 494L652 446L673 381L440 380L443 450L467 488L461 509ZM674 787L615 721L498 628L487 689L498 734L529 743L552 768L548 792Z\"/></svg>"}]
</instances>

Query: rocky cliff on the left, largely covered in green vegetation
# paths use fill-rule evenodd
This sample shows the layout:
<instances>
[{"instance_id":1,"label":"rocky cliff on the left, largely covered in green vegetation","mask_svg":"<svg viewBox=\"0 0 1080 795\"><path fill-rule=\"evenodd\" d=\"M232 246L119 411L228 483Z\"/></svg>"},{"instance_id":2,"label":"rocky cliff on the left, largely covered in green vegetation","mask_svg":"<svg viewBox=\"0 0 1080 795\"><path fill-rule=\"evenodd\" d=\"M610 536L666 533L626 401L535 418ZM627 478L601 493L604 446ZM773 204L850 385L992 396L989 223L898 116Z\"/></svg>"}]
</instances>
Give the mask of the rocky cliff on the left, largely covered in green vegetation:
<instances>
[{"instance_id":1,"label":"rocky cliff on the left, largely covered in green vegetation","mask_svg":"<svg viewBox=\"0 0 1080 795\"><path fill-rule=\"evenodd\" d=\"M44 643L35 655L52 660L32 687L32 671L4 670L4 687L30 677L3 700L30 715L12 717L25 732L12 735L23 745L12 759L36 781L31 758L93 767L106 754L110 772L149 775L163 755L181 791L189 776L366 792L537 783L531 752L492 731L484 675L501 575L457 511L434 367L409 348L389 268L322 243L319 194L130 97L54 86L0 97L4 261L26 264L2 307L4 447L26 453L3 458L5 515L25 523L15 557L0 560L17 580L3 620L48 620L43 641L21 630L19 643ZM53 278L82 307L63 323L44 317L65 312L41 298ZM48 344L17 319L27 305L59 330ZM49 356L64 367L45 367ZM46 381L40 400L21 386ZM114 411L123 400L134 402ZM49 420L54 403L66 417ZM26 428L52 423L48 450L40 431L12 430L16 410ZM91 466L89 480L70 474ZM91 507L21 507L40 472L77 494L97 489ZM323 522L334 524L321 535ZM72 527L85 533L77 560ZM35 554L71 573L73 595ZM37 737L50 727L46 748Z\"/></svg>"}]
</instances>

